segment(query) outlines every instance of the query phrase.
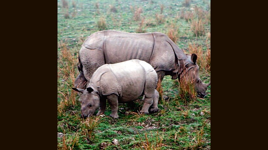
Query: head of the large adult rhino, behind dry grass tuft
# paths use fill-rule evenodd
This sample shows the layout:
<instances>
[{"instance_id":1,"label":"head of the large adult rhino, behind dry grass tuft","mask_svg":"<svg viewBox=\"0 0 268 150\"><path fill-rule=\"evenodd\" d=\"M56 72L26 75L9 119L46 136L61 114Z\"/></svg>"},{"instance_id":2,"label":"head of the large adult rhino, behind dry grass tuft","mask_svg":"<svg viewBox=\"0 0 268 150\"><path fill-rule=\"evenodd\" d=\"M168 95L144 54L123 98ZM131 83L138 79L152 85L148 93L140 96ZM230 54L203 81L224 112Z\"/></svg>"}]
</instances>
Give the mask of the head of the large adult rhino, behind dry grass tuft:
<instances>
[{"instance_id":1,"label":"head of the large adult rhino, behind dry grass tuft","mask_svg":"<svg viewBox=\"0 0 268 150\"><path fill-rule=\"evenodd\" d=\"M207 88L211 83L203 83L199 78L199 67L196 64L197 55L196 54L187 54L188 59L191 60L185 64L184 71L180 75L180 79L184 78L188 81L193 81L195 91L197 92L197 97L204 98L207 93Z\"/></svg>"}]
</instances>

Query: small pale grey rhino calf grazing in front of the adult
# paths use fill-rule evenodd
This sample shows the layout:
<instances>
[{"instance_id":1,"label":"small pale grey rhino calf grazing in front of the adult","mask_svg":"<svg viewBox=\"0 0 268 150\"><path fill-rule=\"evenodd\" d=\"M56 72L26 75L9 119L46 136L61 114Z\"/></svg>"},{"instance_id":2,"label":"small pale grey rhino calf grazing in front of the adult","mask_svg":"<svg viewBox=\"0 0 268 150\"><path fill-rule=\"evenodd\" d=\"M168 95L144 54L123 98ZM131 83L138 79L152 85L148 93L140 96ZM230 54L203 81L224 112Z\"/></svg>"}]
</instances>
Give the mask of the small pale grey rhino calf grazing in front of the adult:
<instances>
[{"instance_id":1,"label":"small pale grey rhino calf grazing in front of the adult","mask_svg":"<svg viewBox=\"0 0 268 150\"><path fill-rule=\"evenodd\" d=\"M105 64L92 75L86 90L73 88L82 93L82 117L88 117L99 108L97 116L104 114L106 99L111 106L111 117L118 118L118 103L137 100L144 94L142 114L157 112L159 93L156 91L157 74L153 67L145 61L133 59L117 64Z\"/></svg>"}]
</instances>

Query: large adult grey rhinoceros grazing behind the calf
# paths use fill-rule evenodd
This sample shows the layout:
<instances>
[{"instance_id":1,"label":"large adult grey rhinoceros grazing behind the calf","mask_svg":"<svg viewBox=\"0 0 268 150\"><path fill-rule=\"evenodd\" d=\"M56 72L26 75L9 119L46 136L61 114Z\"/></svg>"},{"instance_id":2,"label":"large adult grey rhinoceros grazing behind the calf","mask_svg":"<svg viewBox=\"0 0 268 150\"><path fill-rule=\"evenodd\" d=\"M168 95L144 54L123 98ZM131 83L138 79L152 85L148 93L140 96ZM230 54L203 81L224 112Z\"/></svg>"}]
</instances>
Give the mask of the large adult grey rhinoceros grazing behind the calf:
<instances>
[{"instance_id":1,"label":"large adult grey rhinoceros grazing behind the calf","mask_svg":"<svg viewBox=\"0 0 268 150\"><path fill-rule=\"evenodd\" d=\"M203 98L210 83L202 83L199 78L197 55L189 56L164 33L96 32L87 37L79 51L80 74L74 86L85 89L93 72L104 64L139 59L153 66L160 83L165 75L171 75L173 80L180 80L185 71L185 78L188 74L194 75L189 80L194 79L197 96Z\"/></svg>"}]
</instances>

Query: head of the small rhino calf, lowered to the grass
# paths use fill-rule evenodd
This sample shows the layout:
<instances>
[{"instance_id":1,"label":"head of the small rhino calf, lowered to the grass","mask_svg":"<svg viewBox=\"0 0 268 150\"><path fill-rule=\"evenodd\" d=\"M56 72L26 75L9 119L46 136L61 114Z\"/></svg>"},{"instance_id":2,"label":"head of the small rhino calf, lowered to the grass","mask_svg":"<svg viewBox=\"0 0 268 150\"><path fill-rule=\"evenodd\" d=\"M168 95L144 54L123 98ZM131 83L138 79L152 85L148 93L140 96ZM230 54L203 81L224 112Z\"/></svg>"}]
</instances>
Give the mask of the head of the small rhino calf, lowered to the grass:
<instances>
[{"instance_id":1,"label":"head of the small rhino calf, lowered to the grass","mask_svg":"<svg viewBox=\"0 0 268 150\"><path fill-rule=\"evenodd\" d=\"M82 93L79 97L81 101L81 113L82 117L88 117L95 113L96 109L99 107L99 95L93 88L88 87L86 90L80 88L72 88L73 90Z\"/></svg>"}]
</instances>

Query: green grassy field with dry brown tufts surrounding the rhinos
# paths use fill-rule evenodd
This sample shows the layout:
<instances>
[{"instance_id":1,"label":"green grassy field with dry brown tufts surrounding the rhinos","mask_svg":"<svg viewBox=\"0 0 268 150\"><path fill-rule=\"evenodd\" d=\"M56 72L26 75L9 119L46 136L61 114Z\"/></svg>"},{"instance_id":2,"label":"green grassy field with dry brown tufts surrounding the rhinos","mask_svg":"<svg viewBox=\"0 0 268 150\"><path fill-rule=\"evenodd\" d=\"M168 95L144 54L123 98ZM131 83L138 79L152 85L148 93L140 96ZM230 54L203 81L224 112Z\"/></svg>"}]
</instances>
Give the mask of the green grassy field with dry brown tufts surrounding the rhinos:
<instances>
[{"instance_id":1,"label":"green grassy field with dry brown tufts surrounding the rhinos","mask_svg":"<svg viewBox=\"0 0 268 150\"><path fill-rule=\"evenodd\" d=\"M185 53L196 53L200 78L211 74L210 0L57 0L57 149L58 150L210 150L211 86L204 99L180 95L177 80L166 76L155 114L140 115L119 105L119 118L80 118L78 51L100 30L166 33Z\"/></svg>"}]
</instances>

